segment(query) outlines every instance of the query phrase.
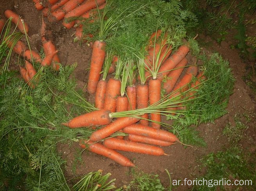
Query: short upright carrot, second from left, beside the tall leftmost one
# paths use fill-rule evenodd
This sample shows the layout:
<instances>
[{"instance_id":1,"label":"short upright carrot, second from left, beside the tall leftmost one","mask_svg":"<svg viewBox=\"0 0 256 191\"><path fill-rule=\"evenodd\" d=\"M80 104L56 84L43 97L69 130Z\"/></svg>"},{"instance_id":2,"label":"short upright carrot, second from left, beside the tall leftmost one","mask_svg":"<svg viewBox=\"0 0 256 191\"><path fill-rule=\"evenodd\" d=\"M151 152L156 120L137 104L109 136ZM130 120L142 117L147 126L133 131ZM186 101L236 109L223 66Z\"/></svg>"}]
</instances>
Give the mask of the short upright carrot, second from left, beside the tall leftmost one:
<instances>
[{"instance_id":1,"label":"short upright carrot, second from left, beside the tall leftmost one","mask_svg":"<svg viewBox=\"0 0 256 191\"><path fill-rule=\"evenodd\" d=\"M97 109L103 109L104 107L106 89L107 89L106 80L100 80L98 82L96 93L95 93L95 107Z\"/></svg>"}]
</instances>

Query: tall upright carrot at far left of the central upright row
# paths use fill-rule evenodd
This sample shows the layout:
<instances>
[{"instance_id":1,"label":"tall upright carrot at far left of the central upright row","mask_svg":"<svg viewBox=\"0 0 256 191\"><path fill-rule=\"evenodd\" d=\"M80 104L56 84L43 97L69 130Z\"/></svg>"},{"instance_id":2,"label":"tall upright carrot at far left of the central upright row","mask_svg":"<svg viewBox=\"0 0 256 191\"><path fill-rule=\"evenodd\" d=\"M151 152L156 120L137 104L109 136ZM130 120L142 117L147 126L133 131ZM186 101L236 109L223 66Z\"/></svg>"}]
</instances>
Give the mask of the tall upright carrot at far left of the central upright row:
<instances>
[{"instance_id":1,"label":"tall upright carrot at far left of the central upright row","mask_svg":"<svg viewBox=\"0 0 256 191\"><path fill-rule=\"evenodd\" d=\"M97 84L100 79L100 72L106 56L106 43L104 41L96 40L93 44L93 52L91 55L90 74L88 79L87 90L89 93L95 93Z\"/></svg>"}]
</instances>

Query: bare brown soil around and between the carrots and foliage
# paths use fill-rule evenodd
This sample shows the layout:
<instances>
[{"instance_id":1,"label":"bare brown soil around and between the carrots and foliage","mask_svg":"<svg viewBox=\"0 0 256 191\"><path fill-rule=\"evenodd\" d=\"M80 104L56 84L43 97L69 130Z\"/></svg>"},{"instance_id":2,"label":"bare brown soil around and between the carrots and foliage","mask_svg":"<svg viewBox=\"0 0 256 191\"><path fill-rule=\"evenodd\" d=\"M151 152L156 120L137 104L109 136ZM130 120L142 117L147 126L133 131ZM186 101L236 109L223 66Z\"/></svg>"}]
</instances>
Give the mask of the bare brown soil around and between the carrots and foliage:
<instances>
[{"instance_id":1,"label":"bare brown soil around and between the carrots and foliage","mask_svg":"<svg viewBox=\"0 0 256 191\"><path fill-rule=\"evenodd\" d=\"M11 9L18 13L29 25L29 37L31 49L40 51L42 44L39 35L41 27L41 11L37 11L34 7L34 3L31 0L9 0L2 1L0 5L0 15L4 17L4 11ZM255 17L255 14L254 14ZM63 28L62 22L49 23L45 18L47 29L52 31L49 34L49 38L54 42L56 48L59 50L59 58L63 65L70 65L77 63L75 69L75 78L79 88L86 91L86 83L88 79L88 68L90 66L91 47L86 44L80 45L74 43L72 34L75 30L66 30ZM250 28L249 32L255 32L254 28ZM217 152L225 150L231 143L227 137L223 136L222 130L229 122L231 125L235 125L234 117L236 114L252 114L255 112L255 98L252 90L245 84L242 77L247 75L247 66L254 64L253 61L244 61L239 56L239 50L231 49L230 46L236 44L233 39L233 33L230 31L226 40L218 44L215 40L208 36L199 35L199 40L204 40L205 47L202 47L207 54L218 52L222 54L223 58L227 59L232 68L234 77L236 79L235 88L233 94L230 96L229 104L227 107L227 114L218 118L214 124L206 123L197 127L200 131L201 137L204 138L207 147L184 147L181 144L175 144L170 147L163 148L170 156L148 156L145 154L134 154L127 152L120 152L131 159L138 170L145 173L158 174L161 182L164 186L168 186L169 178L165 169L170 172L172 180L178 179L195 179L203 175L206 170L200 167L199 160L202 156L205 156L209 152ZM254 33L255 35L255 33ZM16 55L14 55L16 60ZM11 69L18 69L16 65L11 65ZM88 94L87 100L93 102L93 96ZM252 156L255 156L256 147L256 120L252 119L249 124L249 128L245 131L244 138L240 141L241 146L245 152L251 152ZM66 179L70 179L74 176L84 175L86 173L97 171L102 169L105 173L111 172L111 178L116 178L116 186L120 187L124 184L129 184L132 180L131 168L123 167L116 164L111 159L99 156L91 152L83 152L82 162L78 162L76 169L74 164L76 163L77 148L79 145L73 143L70 145L58 144L57 151L62 155L62 158L66 160L66 170L64 172ZM74 172L75 169L75 172ZM179 190L190 189L190 186L180 186Z\"/></svg>"}]
</instances>

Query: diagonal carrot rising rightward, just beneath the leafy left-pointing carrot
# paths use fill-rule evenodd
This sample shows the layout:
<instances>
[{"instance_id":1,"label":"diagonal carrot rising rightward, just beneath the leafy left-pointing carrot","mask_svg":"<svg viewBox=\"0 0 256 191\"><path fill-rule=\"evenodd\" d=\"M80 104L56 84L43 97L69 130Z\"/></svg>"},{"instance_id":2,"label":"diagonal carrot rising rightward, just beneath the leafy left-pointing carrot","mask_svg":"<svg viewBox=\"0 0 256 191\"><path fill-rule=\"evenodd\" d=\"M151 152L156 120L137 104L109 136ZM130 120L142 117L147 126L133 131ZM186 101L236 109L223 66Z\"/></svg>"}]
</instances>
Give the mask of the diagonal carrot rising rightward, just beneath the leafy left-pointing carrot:
<instances>
[{"instance_id":1,"label":"diagonal carrot rising rightward, just beneath the leafy left-pointing carrot","mask_svg":"<svg viewBox=\"0 0 256 191\"><path fill-rule=\"evenodd\" d=\"M112 123L108 124L107 126L101 128L100 130L94 131L93 134L91 134L90 140L92 141L102 140L103 138L106 138L109 135L112 135L116 131L119 131L122 128L129 126L133 123L136 123L138 121L140 121L140 119L136 117L120 117L115 121L113 121Z\"/></svg>"}]
</instances>

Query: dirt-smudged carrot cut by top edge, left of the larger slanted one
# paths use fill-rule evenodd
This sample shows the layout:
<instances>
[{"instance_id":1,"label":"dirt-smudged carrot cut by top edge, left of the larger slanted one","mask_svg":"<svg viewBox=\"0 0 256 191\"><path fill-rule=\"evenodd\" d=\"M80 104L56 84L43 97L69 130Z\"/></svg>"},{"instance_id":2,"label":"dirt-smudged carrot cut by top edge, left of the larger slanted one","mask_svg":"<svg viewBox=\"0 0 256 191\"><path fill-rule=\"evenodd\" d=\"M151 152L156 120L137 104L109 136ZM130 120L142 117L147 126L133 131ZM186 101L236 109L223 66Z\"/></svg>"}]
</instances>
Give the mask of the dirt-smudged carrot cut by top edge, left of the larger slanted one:
<instances>
[{"instance_id":1,"label":"dirt-smudged carrot cut by top edge, left of the larger slanted one","mask_svg":"<svg viewBox=\"0 0 256 191\"><path fill-rule=\"evenodd\" d=\"M84 0L69 0L62 7L59 7L59 9L56 9L48 16L49 21L54 22L62 20L68 12L75 9L75 7L82 2L84 2Z\"/></svg>"}]
</instances>

